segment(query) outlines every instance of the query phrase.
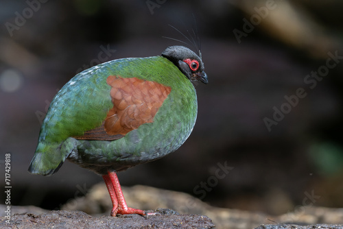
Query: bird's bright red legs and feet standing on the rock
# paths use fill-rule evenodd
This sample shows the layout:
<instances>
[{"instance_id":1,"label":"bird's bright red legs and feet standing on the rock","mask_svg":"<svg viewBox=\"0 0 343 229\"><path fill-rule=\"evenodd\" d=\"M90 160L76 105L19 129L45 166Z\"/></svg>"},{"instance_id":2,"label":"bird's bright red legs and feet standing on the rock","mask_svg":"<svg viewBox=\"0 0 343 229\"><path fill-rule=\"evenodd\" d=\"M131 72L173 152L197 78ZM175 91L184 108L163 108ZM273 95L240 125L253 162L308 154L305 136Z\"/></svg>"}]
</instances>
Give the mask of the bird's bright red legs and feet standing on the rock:
<instances>
[{"instance_id":1,"label":"bird's bright red legs and feet standing on the rock","mask_svg":"<svg viewBox=\"0 0 343 229\"><path fill-rule=\"evenodd\" d=\"M144 210L139 210L135 208L128 208L126 204L125 198L123 196L123 192L121 191L121 186L119 184L119 180L117 177L117 173L108 172L108 175L102 176L105 180L108 193L110 193L110 199L113 203L113 210L111 212L111 216L115 216L118 214L139 214L145 215Z\"/></svg>"}]
</instances>

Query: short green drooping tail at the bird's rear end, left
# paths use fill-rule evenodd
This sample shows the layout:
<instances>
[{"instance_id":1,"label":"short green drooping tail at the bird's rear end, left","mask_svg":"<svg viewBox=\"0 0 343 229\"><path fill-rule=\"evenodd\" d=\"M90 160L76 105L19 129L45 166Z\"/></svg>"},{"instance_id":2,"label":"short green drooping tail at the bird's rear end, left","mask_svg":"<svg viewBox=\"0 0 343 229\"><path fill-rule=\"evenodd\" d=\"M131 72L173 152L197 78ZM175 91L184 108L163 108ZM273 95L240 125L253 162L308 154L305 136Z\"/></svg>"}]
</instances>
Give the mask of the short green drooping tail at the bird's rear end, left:
<instances>
[{"instance_id":1,"label":"short green drooping tail at the bird's rear end, left","mask_svg":"<svg viewBox=\"0 0 343 229\"><path fill-rule=\"evenodd\" d=\"M40 142L28 171L32 174L50 176L60 169L65 158L61 155L60 144Z\"/></svg>"}]
</instances>

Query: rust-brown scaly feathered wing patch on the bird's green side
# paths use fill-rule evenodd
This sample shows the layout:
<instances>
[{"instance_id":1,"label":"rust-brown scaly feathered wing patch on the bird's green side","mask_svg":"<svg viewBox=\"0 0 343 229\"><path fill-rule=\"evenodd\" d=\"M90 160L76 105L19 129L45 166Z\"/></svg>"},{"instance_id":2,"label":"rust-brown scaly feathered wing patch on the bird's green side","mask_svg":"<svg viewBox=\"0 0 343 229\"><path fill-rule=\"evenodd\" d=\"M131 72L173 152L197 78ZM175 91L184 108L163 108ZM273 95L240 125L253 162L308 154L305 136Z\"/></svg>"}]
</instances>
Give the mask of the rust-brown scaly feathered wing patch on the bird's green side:
<instances>
[{"instance_id":1,"label":"rust-brown scaly feathered wing patch on the bird's green side","mask_svg":"<svg viewBox=\"0 0 343 229\"><path fill-rule=\"evenodd\" d=\"M102 126L88 130L82 140L112 141L122 138L144 123L152 123L154 116L169 95L171 88L137 77L123 78L110 75L106 80L111 86L113 108L108 111Z\"/></svg>"}]
</instances>

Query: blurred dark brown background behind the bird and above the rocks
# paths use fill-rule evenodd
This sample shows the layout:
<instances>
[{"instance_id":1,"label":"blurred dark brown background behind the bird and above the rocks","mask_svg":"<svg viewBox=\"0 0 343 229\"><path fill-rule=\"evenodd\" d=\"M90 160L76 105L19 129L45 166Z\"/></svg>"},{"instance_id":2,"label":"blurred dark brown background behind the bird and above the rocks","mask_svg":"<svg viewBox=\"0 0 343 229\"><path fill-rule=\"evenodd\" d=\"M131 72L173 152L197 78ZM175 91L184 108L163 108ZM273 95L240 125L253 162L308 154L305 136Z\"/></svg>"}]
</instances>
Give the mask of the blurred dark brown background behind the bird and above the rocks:
<instances>
[{"instance_id":1,"label":"blurred dark brown background behind the bird and above the rocks","mask_svg":"<svg viewBox=\"0 0 343 229\"><path fill-rule=\"evenodd\" d=\"M339 0L1 1L0 165L11 153L11 204L56 209L102 182L70 162L51 177L27 173L47 107L104 49L107 61L182 45L163 36L188 42L172 25L201 38L209 84L196 86L198 121L177 152L119 173L121 184L271 214L342 207L342 10ZM298 88L305 96L287 105ZM233 167L224 178L218 163Z\"/></svg>"}]
</instances>

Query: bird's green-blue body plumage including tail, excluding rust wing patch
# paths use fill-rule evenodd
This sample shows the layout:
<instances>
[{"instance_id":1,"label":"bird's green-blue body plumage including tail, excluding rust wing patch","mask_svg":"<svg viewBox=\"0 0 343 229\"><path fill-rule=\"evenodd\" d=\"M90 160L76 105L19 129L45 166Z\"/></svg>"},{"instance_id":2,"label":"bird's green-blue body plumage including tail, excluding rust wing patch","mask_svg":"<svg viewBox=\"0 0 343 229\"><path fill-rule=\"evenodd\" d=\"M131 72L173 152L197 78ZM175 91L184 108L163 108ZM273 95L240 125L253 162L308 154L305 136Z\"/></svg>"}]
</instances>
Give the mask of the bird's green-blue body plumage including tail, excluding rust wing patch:
<instances>
[{"instance_id":1,"label":"bird's green-blue body plumage including tail, excluding rust wing patch","mask_svg":"<svg viewBox=\"0 0 343 229\"><path fill-rule=\"evenodd\" d=\"M115 141L76 140L102 125L113 107L109 75L137 77L171 88L152 123L145 123ZM126 58L99 64L75 75L51 102L40 130L29 172L55 173L68 158L99 174L120 171L174 152L193 130L196 91L176 64L165 57Z\"/></svg>"}]
</instances>

